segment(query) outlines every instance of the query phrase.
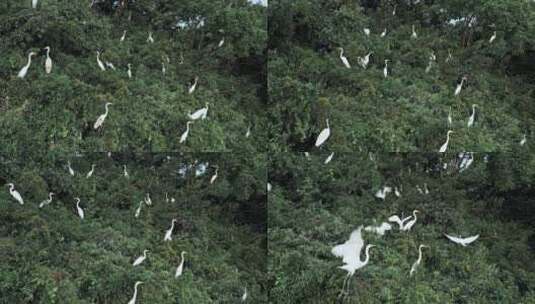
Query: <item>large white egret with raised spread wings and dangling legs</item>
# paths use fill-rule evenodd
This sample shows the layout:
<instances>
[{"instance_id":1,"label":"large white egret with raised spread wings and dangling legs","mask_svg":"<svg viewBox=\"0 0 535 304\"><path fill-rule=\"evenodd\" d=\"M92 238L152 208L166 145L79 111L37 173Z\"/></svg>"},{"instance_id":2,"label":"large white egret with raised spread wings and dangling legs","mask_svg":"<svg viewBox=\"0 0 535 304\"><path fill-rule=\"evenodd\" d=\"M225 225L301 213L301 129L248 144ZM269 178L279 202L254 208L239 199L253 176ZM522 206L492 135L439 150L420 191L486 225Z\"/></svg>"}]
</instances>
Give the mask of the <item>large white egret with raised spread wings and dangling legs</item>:
<instances>
[{"instance_id":1,"label":"large white egret with raised spread wings and dangling legs","mask_svg":"<svg viewBox=\"0 0 535 304\"><path fill-rule=\"evenodd\" d=\"M344 292L346 282L355 274L355 271L366 266L370 259L369 253L370 248L375 247L375 245L367 245L365 254L366 257L364 261L360 259L360 252L364 246L364 240L362 239L362 226L354 230L349 236L349 240L345 243L336 245L332 248L331 253L337 257L341 257L345 265L338 268L347 271L347 276L344 279L344 284L342 285L342 290L340 294Z\"/></svg>"}]
</instances>

